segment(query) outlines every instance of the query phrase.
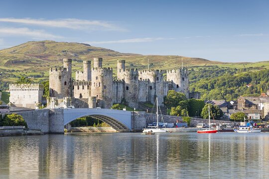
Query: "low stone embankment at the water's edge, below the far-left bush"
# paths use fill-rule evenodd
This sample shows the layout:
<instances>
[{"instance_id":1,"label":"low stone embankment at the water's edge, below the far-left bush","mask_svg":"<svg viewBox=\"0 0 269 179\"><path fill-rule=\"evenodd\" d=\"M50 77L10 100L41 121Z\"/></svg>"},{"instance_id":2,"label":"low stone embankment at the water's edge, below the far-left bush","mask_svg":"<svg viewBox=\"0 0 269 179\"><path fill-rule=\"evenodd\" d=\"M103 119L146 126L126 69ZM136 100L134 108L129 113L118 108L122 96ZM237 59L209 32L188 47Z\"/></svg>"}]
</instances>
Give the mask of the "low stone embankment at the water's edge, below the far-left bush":
<instances>
[{"instance_id":1,"label":"low stone embankment at the water's edge, below the far-left bush","mask_svg":"<svg viewBox=\"0 0 269 179\"><path fill-rule=\"evenodd\" d=\"M0 137L22 136L22 135L44 135L40 130L28 130L24 126L2 126L0 127Z\"/></svg>"}]
</instances>

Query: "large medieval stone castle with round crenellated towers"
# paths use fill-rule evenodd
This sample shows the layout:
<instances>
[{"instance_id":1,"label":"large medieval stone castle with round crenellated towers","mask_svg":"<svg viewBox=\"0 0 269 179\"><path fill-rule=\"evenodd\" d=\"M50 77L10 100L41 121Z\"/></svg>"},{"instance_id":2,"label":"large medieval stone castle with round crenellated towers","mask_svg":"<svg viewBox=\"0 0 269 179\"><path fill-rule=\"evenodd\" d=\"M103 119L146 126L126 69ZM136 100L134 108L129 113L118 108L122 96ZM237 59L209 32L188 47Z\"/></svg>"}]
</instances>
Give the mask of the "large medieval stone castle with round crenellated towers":
<instances>
[{"instance_id":1,"label":"large medieval stone castle with round crenellated towers","mask_svg":"<svg viewBox=\"0 0 269 179\"><path fill-rule=\"evenodd\" d=\"M103 59L94 58L83 61L83 71L76 72L72 81L72 59L63 59L63 68L51 68L49 71L48 104L57 104L62 99L66 105L75 107L111 108L113 103L125 103L138 108L139 103L164 105L163 98L168 90L183 92L186 97L199 98L198 93L189 94L188 70L141 70L126 69L125 60L118 60L117 80L113 80L113 69L103 68ZM165 78L166 74L166 79Z\"/></svg>"}]
</instances>

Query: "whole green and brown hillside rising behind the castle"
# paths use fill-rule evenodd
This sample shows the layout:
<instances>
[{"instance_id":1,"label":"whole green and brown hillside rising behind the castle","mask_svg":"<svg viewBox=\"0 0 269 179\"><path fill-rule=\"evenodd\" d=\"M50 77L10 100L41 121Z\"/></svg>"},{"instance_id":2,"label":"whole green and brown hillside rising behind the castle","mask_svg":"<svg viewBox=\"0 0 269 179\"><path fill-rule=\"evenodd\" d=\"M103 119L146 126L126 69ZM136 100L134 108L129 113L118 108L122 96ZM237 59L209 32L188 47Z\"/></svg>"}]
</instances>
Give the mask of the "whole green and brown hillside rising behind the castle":
<instances>
[{"instance_id":1,"label":"whole green and brown hillside rising behind the castle","mask_svg":"<svg viewBox=\"0 0 269 179\"><path fill-rule=\"evenodd\" d=\"M82 69L82 60L92 60L94 57L103 58L104 67L117 67L117 60L126 60L126 68L146 69L149 61L150 69L181 68L181 59L189 69L190 90L200 91L203 99L234 99L238 95L250 92L260 93L268 89L263 78L256 78L255 73L269 69L269 61L257 63L223 63L202 58L183 56L159 56L120 53L110 49L94 47L89 44L68 43L55 41L31 41L8 49L0 50L0 89L8 89L8 84L15 83L20 76L31 77L35 83L48 80L51 67L61 67L63 58L71 58L73 77L75 72ZM267 73L267 71L264 71ZM248 76L247 81L238 80ZM116 73L114 72L114 75ZM259 74L260 75L260 74ZM233 84L237 79L240 84ZM221 85L220 81L227 81ZM262 85L259 85L263 81ZM255 84L254 89L246 91L246 84ZM241 88L242 87L242 88ZM239 88L241 88L239 90ZM238 89L238 90L236 90ZM229 92L233 95L227 95Z\"/></svg>"}]
</instances>

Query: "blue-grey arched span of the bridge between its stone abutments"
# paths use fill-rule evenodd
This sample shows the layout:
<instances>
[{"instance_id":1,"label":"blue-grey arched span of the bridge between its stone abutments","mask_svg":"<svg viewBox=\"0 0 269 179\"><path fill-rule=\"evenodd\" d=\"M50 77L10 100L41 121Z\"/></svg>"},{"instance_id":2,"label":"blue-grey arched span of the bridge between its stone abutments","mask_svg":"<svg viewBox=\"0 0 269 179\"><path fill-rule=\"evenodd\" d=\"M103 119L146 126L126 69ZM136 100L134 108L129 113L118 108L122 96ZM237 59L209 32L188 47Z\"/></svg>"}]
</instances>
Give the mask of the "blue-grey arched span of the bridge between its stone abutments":
<instances>
[{"instance_id":1,"label":"blue-grey arched span of the bridge between its stone abutments","mask_svg":"<svg viewBox=\"0 0 269 179\"><path fill-rule=\"evenodd\" d=\"M99 108L73 108L64 109L64 125L83 116L91 116L109 124L117 131L132 130L131 111Z\"/></svg>"}]
</instances>

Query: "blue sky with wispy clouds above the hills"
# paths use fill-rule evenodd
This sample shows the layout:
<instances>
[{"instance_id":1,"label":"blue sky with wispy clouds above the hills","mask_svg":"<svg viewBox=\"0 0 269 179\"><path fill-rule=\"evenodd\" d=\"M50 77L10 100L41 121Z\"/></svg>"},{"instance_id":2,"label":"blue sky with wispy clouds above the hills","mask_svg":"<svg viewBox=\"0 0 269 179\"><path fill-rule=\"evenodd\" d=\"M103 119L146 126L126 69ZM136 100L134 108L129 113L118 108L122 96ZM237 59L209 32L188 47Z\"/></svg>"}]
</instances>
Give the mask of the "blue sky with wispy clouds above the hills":
<instances>
[{"instance_id":1,"label":"blue sky with wispy clouds above the hills","mask_svg":"<svg viewBox=\"0 0 269 179\"><path fill-rule=\"evenodd\" d=\"M269 0L4 0L0 49L88 43L122 53L269 60Z\"/></svg>"}]
</instances>

